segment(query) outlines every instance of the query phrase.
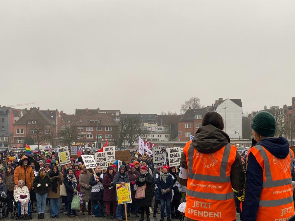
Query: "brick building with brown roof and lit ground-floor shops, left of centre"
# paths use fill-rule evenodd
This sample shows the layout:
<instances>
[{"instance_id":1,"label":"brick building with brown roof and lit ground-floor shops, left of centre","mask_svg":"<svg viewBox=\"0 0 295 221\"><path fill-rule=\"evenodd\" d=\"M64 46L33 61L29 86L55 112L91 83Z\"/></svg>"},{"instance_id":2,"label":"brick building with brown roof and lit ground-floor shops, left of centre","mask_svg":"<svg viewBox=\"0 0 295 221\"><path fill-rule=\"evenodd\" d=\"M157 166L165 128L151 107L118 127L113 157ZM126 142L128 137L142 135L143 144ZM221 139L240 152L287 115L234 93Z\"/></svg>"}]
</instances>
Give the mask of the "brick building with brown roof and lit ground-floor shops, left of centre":
<instances>
[{"instance_id":1,"label":"brick building with brown roof and lit ground-floor shops, left of centre","mask_svg":"<svg viewBox=\"0 0 295 221\"><path fill-rule=\"evenodd\" d=\"M102 147L108 140L108 145L115 145L117 139L117 124L109 113L82 113L72 124L77 131L78 143L88 146Z\"/></svg>"}]
</instances>

